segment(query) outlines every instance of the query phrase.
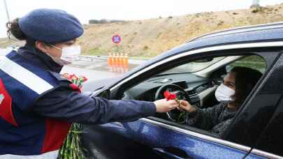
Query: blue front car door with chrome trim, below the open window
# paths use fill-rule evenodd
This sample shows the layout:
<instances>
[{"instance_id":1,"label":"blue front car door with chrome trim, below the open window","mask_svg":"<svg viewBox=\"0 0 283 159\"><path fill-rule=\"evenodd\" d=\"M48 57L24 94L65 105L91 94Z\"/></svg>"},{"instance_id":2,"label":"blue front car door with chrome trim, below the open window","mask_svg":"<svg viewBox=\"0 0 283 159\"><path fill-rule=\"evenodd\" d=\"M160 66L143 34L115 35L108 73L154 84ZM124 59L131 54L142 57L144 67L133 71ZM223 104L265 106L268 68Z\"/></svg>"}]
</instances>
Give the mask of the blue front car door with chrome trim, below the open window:
<instances>
[{"instance_id":1,"label":"blue front car door with chrome trim, below the open window","mask_svg":"<svg viewBox=\"0 0 283 159\"><path fill-rule=\"evenodd\" d=\"M258 51L254 50L254 52ZM132 76L133 78L129 80L124 79L117 86L113 86L110 89L111 96L115 98L119 94L120 88L146 79L148 76L154 74L157 68L166 68L168 63L170 63L170 66L177 65L177 61L182 61L184 57L194 59L198 56L223 56L224 54L227 56L237 55L235 50L217 50L217 52L200 52L194 55L184 53L183 56L179 55L176 59L173 58L172 61L166 59L166 63L162 63L161 61L161 64L157 63L148 70L142 70L143 73L137 72L137 75ZM266 62L267 69L270 72L273 72L271 68L278 54L277 50L275 52L261 54L268 57L266 58ZM233 135L231 135L231 132L235 128L246 128L245 126L247 125L242 124L242 119L247 117L243 112L246 109L254 107L254 103L251 101L261 98L261 93L265 93L266 95L266 92L262 92L261 90L262 88L266 88L265 86L268 86L266 83L263 84L265 82L264 78L269 79L270 76L263 76L263 79L261 79L262 84L257 85L254 93L249 96L244 107L238 113L238 118L233 123L235 126L231 126L223 138L194 128L182 127L180 124L170 121L149 117L133 122L115 122L100 126L85 126L85 130L89 133L85 133L84 135L84 144L90 151L91 156L96 158L245 158L255 141L245 143L241 140L243 133L239 133L239 137L237 133L232 133ZM273 99L274 101L272 103L276 103L278 100L277 98ZM264 104L266 103L263 101L262 105ZM239 131L237 130L237 132ZM254 135L252 133L255 132L246 132L244 135L252 136ZM258 135L257 133L255 134Z\"/></svg>"}]
</instances>

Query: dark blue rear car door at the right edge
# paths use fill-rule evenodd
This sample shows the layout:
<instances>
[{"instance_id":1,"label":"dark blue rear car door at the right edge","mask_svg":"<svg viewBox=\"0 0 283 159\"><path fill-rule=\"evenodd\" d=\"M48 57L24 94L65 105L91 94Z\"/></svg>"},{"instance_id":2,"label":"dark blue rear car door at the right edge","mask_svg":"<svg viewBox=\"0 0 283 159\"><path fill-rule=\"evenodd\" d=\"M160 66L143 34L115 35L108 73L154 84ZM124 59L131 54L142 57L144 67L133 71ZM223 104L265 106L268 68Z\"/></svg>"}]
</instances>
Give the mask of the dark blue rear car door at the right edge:
<instances>
[{"instance_id":1,"label":"dark blue rear car door at the right edge","mask_svg":"<svg viewBox=\"0 0 283 159\"><path fill-rule=\"evenodd\" d=\"M263 133L258 137L255 146L247 158L283 158L283 57L281 56L273 71L273 85L270 94L279 94L280 101L275 105L275 111L264 128ZM267 107L261 112L266 112ZM266 116L262 116L266 117Z\"/></svg>"}]
</instances>

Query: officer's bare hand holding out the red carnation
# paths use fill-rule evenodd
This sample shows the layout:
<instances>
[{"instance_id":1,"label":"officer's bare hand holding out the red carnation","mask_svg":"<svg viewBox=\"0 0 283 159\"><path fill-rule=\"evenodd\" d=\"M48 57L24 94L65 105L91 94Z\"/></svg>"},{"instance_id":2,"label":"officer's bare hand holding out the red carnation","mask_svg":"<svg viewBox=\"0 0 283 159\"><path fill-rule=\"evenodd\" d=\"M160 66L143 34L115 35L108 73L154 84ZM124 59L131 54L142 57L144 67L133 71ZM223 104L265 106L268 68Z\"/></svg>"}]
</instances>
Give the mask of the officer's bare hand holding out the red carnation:
<instances>
[{"instance_id":1,"label":"officer's bare hand holding out the red carnation","mask_svg":"<svg viewBox=\"0 0 283 159\"><path fill-rule=\"evenodd\" d=\"M175 100L155 100L155 107L157 107L157 112L169 112L170 110L175 109L179 104Z\"/></svg>"}]
</instances>

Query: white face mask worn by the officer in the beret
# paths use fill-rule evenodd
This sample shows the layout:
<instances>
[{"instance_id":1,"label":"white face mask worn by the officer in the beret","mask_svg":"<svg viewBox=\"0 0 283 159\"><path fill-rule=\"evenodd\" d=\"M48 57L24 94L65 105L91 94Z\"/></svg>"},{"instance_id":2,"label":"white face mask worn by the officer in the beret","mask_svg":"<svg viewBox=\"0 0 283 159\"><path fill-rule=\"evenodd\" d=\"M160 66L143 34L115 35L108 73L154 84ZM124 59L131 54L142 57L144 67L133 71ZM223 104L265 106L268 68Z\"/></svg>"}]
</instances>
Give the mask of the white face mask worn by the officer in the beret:
<instances>
[{"instance_id":1,"label":"white face mask worn by the officer in the beret","mask_svg":"<svg viewBox=\"0 0 283 159\"><path fill-rule=\"evenodd\" d=\"M61 57L51 56L53 61L58 63L60 66L70 64L73 61L77 61L79 59L79 55L80 55L80 52L81 52L80 45L63 47L62 49L60 49L59 47L56 47L54 45L51 45L51 46L55 47L57 50L62 51Z\"/></svg>"}]
</instances>

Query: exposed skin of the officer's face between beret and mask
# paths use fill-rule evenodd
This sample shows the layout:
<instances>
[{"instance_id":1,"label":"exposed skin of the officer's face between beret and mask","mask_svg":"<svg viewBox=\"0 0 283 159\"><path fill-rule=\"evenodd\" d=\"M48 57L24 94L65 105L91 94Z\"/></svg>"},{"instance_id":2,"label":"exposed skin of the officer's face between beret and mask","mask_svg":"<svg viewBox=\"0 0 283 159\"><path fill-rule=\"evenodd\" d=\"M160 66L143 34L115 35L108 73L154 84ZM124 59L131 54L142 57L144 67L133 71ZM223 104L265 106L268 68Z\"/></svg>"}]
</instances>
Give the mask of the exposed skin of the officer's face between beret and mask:
<instances>
[{"instance_id":1,"label":"exposed skin of the officer's face between beret and mask","mask_svg":"<svg viewBox=\"0 0 283 159\"><path fill-rule=\"evenodd\" d=\"M55 45L46 45L46 44L41 43L41 42L36 42L36 47L39 50L41 50L42 52L50 54L50 56L61 57L62 48L74 45L76 41L77 40L74 39L74 40L69 40L69 41L64 42L64 43L57 43Z\"/></svg>"}]
</instances>

